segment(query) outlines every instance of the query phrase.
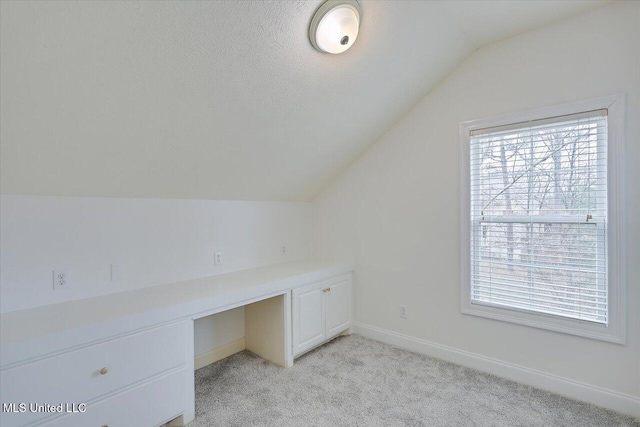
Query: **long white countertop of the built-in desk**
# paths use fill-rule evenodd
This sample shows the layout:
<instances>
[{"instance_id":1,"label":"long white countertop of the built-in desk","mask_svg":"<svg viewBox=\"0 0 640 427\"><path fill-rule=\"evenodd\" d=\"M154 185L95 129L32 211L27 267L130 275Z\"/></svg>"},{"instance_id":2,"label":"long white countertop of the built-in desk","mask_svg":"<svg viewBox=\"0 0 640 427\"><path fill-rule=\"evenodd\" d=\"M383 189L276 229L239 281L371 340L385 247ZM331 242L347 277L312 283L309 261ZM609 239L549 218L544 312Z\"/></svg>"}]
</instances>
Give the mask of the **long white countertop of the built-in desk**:
<instances>
[{"instance_id":1,"label":"long white countertop of the built-in desk","mask_svg":"<svg viewBox=\"0 0 640 427\"><path fill-rule=\"evenodd\" d=\"M5 313L0 368L351 271L348 263L309 259Z\"/></svg>"}]
</instances>

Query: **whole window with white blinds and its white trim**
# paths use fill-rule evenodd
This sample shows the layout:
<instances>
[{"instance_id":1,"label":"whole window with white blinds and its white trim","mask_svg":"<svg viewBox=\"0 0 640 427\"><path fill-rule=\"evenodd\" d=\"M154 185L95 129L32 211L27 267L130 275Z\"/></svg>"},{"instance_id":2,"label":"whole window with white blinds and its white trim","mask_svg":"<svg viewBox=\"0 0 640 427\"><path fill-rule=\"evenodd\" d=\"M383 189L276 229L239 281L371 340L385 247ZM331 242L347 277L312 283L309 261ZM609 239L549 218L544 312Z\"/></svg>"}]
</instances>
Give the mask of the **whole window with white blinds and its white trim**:
<instances>
[{"instance_id":1,"label":"whole window with white blinds and its white trim","mask_svg":"<svg viewBox=\"0 0 640 427\"><path fill-rule=\"evenodd\" d=\"M464 313L624 342L619 99L461 125Z\"/></svg>"}]
</instances>

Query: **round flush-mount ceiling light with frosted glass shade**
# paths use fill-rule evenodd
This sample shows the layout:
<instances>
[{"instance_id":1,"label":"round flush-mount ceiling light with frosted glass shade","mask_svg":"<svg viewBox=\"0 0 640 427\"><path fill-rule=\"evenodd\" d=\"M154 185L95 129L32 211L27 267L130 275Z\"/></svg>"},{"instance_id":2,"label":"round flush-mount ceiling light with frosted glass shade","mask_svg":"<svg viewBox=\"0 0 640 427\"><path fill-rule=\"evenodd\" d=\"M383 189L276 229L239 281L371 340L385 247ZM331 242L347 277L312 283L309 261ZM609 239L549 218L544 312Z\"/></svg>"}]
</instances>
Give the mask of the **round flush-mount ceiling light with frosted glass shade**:
<instances>
[{"instance_id":1,"label":"round flush-mount ceiling light with frosted glass shade","mask_svg":"<svg viewBox=\"0 0 640 427\"><path fill-rule=\"evenodd\" d=\"M309 39L320 52L342 53L358 37L362 8L357 0L328 0L311 19Z\"/></svg>"}]
</instances>

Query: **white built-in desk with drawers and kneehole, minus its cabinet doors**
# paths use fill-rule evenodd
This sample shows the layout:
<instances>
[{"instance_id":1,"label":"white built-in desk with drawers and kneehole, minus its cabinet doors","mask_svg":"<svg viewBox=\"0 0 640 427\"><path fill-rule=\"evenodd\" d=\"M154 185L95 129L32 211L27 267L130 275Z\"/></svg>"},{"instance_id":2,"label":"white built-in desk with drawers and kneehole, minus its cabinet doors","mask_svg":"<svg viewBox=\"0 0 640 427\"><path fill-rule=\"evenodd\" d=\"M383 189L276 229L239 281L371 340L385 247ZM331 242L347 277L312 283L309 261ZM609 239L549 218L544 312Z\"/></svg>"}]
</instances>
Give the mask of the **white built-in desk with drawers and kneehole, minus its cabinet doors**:
<instances>
[{"instance_id":1,"label":"white built-in desk with drawers and kneehole, minus its cabinet doors","mask_svg":"<svg viewBox=\"0 0 640 427\"><path fill-rule=\"evenodd\" d=\"M332 277L350 283L352 270L298 261L3 314L0 400L15 406L4 408L0 424L143 426L178 416L188 422L194 319L245 306L247 349L290 366L292 291ZM21 412L21 403L87 406L64 415Z\"/></svg>"}]
</instances>

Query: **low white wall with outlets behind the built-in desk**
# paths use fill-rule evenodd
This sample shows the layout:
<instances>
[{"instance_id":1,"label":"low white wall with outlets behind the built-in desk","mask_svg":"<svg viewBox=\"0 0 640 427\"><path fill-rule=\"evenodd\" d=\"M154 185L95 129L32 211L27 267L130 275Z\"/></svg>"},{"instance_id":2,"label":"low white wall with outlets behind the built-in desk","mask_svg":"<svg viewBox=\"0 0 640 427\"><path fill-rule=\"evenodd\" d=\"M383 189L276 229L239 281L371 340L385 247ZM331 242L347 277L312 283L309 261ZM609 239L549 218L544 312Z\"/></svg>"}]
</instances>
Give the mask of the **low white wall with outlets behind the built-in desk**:
<instances>
[{"instance_id":1,"label":"low white wall with outlets behind the built-in desk","mask_svg":"<svg viewBox=\"0 0 640 427\"><path fill-rule=\"evenodd\" d=\"M312 217L296 202L2 195L0 311L309 258ZM111 281L112 263L122 281ZM53 290L54 269L68 271L70 289ZM198 321L196 354L242 338L239 318Z\"/></svg>"}]
</instances>

